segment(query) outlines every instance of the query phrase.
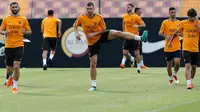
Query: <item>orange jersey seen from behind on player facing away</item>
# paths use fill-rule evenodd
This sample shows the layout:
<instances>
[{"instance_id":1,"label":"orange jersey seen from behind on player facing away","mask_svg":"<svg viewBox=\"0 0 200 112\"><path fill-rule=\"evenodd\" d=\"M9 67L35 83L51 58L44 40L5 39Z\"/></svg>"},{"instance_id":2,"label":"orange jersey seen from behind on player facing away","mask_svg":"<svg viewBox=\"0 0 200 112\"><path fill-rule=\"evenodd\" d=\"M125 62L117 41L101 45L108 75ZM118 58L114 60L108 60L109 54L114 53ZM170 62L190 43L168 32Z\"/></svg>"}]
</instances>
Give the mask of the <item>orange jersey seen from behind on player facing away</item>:
<instances>
[{"instance_id":1,"label":"orange jersey seen from behind on player facing away","mask_svg":"<svg viewBox=\"0 0 200 112\"><path fill-rule=\"evenodd\" d=\"M57 38L57 24L60 21L55 17L47 17L42 20L41 29L43 30L43 37Z\"/></svg>"}]
</instances>

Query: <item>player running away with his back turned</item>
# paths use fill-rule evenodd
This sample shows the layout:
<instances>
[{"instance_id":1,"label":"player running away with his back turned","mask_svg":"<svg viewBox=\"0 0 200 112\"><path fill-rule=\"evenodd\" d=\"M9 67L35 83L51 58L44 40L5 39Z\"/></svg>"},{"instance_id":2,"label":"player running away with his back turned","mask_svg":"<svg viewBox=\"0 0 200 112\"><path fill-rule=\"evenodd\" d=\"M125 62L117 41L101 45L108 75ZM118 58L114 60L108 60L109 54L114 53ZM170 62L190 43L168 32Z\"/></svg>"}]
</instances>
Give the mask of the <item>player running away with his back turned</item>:
<instances>
[{"instance_id":1,"label":"player running away with his back turned","mask_svg":"<svg viewBox=\"0 0 200 112\"><path fill-rule=\"evenodd\" d=\"M58 25L58 32L57 32ZM48 58L48 65L52 66L52 60L56 52L57 37L61 36L62 21L54 17L54 11L48 10L48 17L43 19L41 25L41 32L43 33L43 44L42 44L42 59L43 59L43 70L47 70L47 54L49 47L51 48L50 56Z\"/></svg>"}]
</instances>

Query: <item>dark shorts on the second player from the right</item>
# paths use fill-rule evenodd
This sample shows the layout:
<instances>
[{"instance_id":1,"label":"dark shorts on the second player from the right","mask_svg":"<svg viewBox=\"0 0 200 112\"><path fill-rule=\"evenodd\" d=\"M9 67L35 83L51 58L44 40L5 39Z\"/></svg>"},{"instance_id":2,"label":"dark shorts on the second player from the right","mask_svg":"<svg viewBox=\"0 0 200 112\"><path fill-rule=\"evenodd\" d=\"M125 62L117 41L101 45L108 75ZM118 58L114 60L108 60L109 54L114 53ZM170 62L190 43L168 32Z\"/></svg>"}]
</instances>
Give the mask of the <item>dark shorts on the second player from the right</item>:
<instances>
[{"instance_id":1,"label":"dark shorts on the second player from the right","mask_svg":"<svg viewBox=\"0 0 200 112\"><path fill-rule=\"evenodd\" d=\"M165 52L166 61L171 61L174 58L181 58L181 50L177 50L174 52Z\"/></svg>"}]
</instances>

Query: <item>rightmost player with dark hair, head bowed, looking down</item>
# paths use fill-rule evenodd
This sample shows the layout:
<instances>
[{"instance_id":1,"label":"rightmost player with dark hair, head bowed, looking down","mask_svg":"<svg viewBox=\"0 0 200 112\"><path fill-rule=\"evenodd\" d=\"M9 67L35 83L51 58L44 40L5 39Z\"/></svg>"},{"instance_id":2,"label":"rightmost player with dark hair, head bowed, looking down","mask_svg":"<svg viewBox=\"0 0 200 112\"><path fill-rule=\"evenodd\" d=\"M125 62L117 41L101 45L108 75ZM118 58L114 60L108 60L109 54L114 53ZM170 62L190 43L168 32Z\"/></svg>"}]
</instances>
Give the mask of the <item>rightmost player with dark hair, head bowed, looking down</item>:
<instances>
[{"instance_id":1,"label":"rightmost player with dark hair, head bowed, looking down","mask_svg":"<svg viewBox=\"0 0 200 112\"><path fill-rule=\"evenodd\" d=\"M182 50L185 62L187 89L192 89L194 87L192 80L194 79L198 62L200 22L197 17L197 12L193 8L188 10L187 16L188 19L181 21L180 26L168 43L168 47L172 48L176 46L174 41L176 41L178 33L183 32Z\"/></svg>"}]
</instances>

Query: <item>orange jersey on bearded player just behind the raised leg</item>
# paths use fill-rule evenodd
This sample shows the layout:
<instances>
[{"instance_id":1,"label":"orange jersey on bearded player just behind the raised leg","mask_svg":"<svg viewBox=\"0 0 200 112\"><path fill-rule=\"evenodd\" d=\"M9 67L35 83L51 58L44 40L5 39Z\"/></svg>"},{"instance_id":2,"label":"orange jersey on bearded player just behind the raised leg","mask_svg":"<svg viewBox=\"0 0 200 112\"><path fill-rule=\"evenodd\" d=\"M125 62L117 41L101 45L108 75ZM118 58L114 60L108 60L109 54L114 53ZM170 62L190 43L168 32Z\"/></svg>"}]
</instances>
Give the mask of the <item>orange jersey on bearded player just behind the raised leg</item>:
<instances>
[{"instance_id":1,"label":"orange jersey on bearded player just behind the raised leg","mask_svg":"<svg viewBox=\"0 0 200 112\"><path fill-rule=\"evenodd\" d=\"M139 35L139 30L138 28L134 28L133 25L141 25L144 24L144 21L140 16L137 14L124 14L123 17L123 25L124 25L124 31L125 32L130 32L136 35Z\"/></svg>"}]
</instances>

